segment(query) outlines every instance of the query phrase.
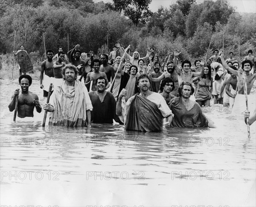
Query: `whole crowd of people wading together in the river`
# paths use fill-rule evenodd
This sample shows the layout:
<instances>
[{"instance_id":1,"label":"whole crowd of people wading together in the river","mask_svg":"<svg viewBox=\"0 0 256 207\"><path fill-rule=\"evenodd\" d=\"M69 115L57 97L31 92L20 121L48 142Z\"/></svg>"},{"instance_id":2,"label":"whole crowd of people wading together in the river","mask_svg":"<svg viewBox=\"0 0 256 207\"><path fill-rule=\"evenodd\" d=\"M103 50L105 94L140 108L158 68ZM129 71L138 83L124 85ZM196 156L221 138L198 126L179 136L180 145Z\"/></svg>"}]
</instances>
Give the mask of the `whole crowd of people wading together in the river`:
<instances>
[{"instance_id":1,"label":"whole crowd of people wading together in the river","mask_svg":"<svg viewBox=\"0 0 256 207\"><path fill-rule=\"evenodd\" d=\"M247 111L244 99L243 78L251 106L255 107L255 96L250 96L256 74L256 58L252 51L241 63L233 57L224 60L223 53L216 49L214 55L204 60L178 60L180 52L160 63L154 48L141 58L139 52L130 56L120 44L113 47L110 55L101 54L94 59L93 53L82 53L79 45L63 52L59 48L54 56L47 50L47 60L41 65L40 87L44 97L48 96L53 83L49 103L42 106L38 95L29 91L32 78L19 77L20 89L16 89L9 104L19 118L33 117L34 108L49 113L49 125L91 126L92 123L118 122L126 130L161 131L169 127L215 127L202 112L201 106L213 103L232 107L233 113L244 112L252 123L253 114ZM172 58L171 58L172 57ZM252 70L252 72L251 72ZM195 94L195 101L192 95ZM254 98L254 100L253 100Z\"/></svg>"}]
</instances>

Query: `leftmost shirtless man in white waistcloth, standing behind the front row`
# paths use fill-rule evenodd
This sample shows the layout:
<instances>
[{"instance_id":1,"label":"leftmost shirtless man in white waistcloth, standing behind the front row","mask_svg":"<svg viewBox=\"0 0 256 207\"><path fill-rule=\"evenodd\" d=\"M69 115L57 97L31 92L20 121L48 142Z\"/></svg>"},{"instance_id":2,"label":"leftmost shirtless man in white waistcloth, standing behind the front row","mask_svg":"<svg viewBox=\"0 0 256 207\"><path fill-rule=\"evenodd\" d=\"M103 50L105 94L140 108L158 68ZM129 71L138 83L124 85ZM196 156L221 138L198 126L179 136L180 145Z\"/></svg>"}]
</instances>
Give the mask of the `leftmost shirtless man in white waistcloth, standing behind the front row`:
<instances>
[{"instance_id":1,"label":"leftmost shirtless man in white waistcloth, standing behind the front row","mask_svg":"<svg viewBox=\"0 0 256 207\"><path fill-rule=\"evenodd\" d=\"M51 83L51 77L54 78L53 74L53 51L51 49L48 49L46 51L47 60L44 60L44 62L41 65L41 73L40 73L40 88L44 91L44 97L48 96L48 89L49 85ZM44 84L43 84L44 79ZM52 80L53 82L53 80Z\"/></svg>"}]
</instances>

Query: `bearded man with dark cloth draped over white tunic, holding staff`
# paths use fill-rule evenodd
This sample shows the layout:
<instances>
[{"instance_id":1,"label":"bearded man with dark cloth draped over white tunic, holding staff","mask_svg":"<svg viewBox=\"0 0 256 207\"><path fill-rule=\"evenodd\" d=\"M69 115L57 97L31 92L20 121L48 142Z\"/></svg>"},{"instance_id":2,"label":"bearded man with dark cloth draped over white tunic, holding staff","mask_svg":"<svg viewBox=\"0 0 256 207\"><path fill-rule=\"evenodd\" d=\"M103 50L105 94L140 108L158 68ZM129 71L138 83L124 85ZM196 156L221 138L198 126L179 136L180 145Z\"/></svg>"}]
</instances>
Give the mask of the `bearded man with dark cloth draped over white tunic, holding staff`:
<instances>
[{"instance_id":1,"label":"bearded man with dark cloth draped over white tunic, holding staff","mask_svg":"<svg viewBox=\"0 0 256 207\"><path fill-rule=\"evenodd\" d=\"M134 95L126 102L127 121L126 130L161 131L163 126L169 128L173 114L163 96L151 92L148 75L142 74L137 78L136 86L140 89L139 95ZM122 89L116 103L116 115L122 114L121 99L127 95Z\"/></svg>"}]
</instances>

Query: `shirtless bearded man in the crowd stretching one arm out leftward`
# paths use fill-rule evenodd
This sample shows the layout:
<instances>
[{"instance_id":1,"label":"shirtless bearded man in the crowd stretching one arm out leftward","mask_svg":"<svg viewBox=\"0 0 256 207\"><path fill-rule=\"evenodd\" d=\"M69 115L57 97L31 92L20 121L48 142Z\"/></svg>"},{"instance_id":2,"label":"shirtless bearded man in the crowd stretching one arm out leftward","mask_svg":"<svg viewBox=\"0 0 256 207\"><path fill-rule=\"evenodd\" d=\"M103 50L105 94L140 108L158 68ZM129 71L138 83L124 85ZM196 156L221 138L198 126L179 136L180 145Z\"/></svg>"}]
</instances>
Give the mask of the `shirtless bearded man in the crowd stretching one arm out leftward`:
<instances>
[{"instance_id":1,"label":"shirtless bearded man in the crowd stretching one arm out leftward","mask_svg":"<svg viewBox=\"0 0 256 207\"><path fill-rule=\"evenodd\" d=\"M174 81L174 90L172 90L172 95L178 95L178 87L179 87L179 81L178 81L178 72L176 70L180 70L179 68L174 67L174 63L172 61L167 63L167 71L163 72L162 75L160 75L158 78L150 78L151 81L161 81L164 78L171 78Z\"/></svg>"}]
</instances>

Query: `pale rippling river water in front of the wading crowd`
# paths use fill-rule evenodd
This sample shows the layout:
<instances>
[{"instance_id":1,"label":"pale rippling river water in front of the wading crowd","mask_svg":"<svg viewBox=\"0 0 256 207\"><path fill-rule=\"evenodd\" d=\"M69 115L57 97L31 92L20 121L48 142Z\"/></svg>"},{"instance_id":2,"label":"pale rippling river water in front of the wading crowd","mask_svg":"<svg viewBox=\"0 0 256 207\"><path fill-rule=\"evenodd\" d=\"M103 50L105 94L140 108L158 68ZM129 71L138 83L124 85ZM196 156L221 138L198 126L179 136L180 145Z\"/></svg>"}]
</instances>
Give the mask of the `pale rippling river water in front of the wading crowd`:
<instances>
[{"instance_id":1,"label":"pale rippling river water in front of the wading crowd","mask_svg":"<svg viewBox=\"0 0 256 207\"><path fill-rule=\"evenodd\" d=\"M214 105L217 128L158 133L43 128L44 111L12 121L17 83L0 80L2 206L256 206L255 123L248 139L241 115ZM39 81L30 91L46 102Z\"/></svg>"}]
</instances>

